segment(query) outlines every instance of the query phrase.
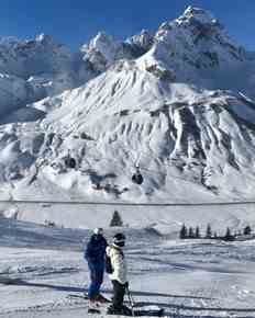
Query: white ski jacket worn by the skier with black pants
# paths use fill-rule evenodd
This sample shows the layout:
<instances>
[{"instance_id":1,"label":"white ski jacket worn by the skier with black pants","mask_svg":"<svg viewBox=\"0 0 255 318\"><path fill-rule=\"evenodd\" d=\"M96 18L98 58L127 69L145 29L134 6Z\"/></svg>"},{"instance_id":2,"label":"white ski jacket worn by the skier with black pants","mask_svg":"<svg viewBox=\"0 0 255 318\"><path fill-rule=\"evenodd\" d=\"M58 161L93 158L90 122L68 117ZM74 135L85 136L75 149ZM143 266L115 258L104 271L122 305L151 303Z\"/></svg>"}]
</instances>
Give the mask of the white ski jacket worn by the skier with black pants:
<instances>
[{"instance_id":1,"label":"white ski jacket worn by the skier with black pants","mask_svg":"<svg viewBox=\"0 0 255 318\"><path fill-rule=\"evenodd\" d=\"M113 273L109 274L110 280L125 284L127 282L127 266L122 249L112 245L107 247L107 254L111 259L111 265L113 269Z\"/></svg>"}]
</instances>

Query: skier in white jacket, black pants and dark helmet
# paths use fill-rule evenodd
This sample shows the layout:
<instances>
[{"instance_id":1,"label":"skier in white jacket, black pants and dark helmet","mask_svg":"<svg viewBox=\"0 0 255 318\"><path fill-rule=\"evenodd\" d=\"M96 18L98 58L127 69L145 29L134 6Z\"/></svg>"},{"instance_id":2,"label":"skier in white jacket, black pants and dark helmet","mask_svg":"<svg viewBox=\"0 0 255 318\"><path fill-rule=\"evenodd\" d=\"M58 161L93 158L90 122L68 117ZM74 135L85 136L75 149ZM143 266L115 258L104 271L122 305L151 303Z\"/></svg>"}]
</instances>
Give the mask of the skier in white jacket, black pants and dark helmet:
<instances>
[{"instance_id":1,"label":"skier in white jacket, black pants and dark helmet","mask_svg":"<svg viewBox=\"0 0 255 318\"><path fill-rule=\"evenodd\" d=\"M112 305L108 307L108 314L111 315L132 315L132 310L123 305L125 288L129 287L127 268L122 249L124 246L125 236L119 232L114 235L113 243L107 247L107 255L110 258L112 266L109 277L113 285L113 298Z\"/></svg>"}]
</instances>

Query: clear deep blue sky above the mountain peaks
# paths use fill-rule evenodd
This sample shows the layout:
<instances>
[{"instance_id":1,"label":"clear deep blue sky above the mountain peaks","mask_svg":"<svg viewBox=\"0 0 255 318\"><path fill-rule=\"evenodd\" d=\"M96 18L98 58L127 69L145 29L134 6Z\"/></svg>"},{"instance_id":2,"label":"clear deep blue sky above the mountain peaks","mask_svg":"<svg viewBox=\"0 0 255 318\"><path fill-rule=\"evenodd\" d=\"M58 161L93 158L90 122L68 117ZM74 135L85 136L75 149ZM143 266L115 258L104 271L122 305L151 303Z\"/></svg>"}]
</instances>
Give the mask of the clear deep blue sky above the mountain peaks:
<instances>
[{"instance_id":1,"label":"clear deep blue sky above the mountain peaks","mask_svg":"<svg viewBox=\"0 0 255 318\"><path fill-rule=\"evenodd\" d=\"M76 50L102 30L121 39L142 29L154 32L188 5L211 11L235 41L255 50L255 0L0 0L0 36L45 33Z\"/></svg>"}]
</instances>

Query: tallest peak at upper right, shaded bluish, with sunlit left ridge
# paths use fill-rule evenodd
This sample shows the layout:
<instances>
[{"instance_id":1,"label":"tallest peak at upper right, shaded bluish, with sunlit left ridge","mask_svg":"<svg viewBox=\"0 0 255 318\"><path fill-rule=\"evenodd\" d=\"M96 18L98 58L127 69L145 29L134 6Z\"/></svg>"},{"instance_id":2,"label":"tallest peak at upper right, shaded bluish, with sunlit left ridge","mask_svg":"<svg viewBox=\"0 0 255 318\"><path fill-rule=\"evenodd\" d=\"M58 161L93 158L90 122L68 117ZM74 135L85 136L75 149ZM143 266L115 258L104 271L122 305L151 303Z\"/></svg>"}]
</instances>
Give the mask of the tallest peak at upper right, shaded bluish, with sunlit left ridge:
<instances>
[{"instance_id":1,"label":"tallest peak at upper right, shaded bluish, with sunlit left ridge","mask_svg":"<svg viewBox=\"0 0 255 318\"><path fill-rule=\"evenodd\" d=\"M140 60L145 69L170 70L175 81L254 95L254 58L201 9L189 7L175 21L162 24L153 47Z\"/></svg>"}]
</instances>

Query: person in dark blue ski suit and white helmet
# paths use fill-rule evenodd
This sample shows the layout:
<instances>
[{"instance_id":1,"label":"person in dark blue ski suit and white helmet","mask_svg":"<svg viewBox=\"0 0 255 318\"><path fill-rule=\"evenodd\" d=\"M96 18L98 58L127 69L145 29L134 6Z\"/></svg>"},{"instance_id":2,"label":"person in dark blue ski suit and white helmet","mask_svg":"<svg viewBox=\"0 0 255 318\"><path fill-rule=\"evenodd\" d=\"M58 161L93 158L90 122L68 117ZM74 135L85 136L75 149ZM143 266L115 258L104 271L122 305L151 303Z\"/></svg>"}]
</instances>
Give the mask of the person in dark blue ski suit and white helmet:
<instances>
[{"instance_id":1,"label":"person in dark blue ski suit and white helmet","mask_svg":"<svg viewBox=\"0 0 255 318\"><path fill-rule=\"evenodd\" d=\"M108 242L103 237L103 229L96 228L85 250L85 259L88 261L90 271L90 285L88 297L91 302L106 302L100 294L100 287L103 282L104 257Z\"/></svg>"}]
</instances>

